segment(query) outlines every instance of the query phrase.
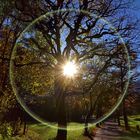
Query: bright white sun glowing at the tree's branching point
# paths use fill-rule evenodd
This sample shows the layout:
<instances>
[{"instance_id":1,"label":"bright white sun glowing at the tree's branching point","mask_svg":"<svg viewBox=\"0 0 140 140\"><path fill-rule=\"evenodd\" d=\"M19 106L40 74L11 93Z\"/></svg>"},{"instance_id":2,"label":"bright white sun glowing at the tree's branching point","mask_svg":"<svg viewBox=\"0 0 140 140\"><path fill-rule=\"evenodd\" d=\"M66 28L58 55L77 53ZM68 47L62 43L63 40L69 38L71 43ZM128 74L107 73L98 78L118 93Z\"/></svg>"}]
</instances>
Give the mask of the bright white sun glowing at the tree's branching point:
<instances>
[{"instance_id":1,"label":"bright white sun glowing at the tree's branching point","mask_svg":"<svg viewBox=\"0 0 140 140\"><path fill-rule=\"evenodd\" d=\"M63 74L67 77L73 77L77 73L77 66L74 62L67 62L63 67Z\"/></svg>"}]
</instances>

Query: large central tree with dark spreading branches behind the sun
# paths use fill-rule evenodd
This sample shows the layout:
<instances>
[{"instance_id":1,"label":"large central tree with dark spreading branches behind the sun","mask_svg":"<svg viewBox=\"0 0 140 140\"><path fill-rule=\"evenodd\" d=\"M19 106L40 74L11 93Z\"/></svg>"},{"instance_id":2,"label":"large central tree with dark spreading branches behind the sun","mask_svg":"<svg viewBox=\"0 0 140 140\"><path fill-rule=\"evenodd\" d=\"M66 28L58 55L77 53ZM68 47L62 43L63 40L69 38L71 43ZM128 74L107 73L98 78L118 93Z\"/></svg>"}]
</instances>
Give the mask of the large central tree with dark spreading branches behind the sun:
<instances>
[{"instance_id":1,"label":"large central tree with dark spreading branches behind the sun","mask_svg":"<svg viewBox=\"0 0 140 140\"><path fill-rule=\"evenodd\" d=\"M93 101L92 96L90 98L89 95L95 93L94 87L104 79L104 76L110 79L110 74L107 73L113 66L111 62L118 59L117 54L119 53L116 49L116 43L120 40L116 37L116 31L126 39L136 28L135 20L129 21L126 18L127 13L119 14L120 12L123 13L129 4L125 0L15 1L16 10L11 12L9 16L18 24L22 24L20 31L29 22L51 10L74 8L98 15L94 17L82 11L74 10L52 13L51 16L36 23L19 41L17 58L14 60L16 83L19 82L20 88L27 89L31 93L40 91L42 94L47 88L48 93L54 94L59 126L67 127L65 103L67 97L65 95L71 94L73 96L73 94L78 95L80 92L80 95L83 94L92 103L96 99L94 98ZM108 18L116 31L99 17ZM17 29L15 30L17 31ZM21 52L23 53L22 56L20 56ZM79 65L82 72L79 76L75 76L74 80L66 80L67 78L62 74L62 65L66 61L72 60ZM94 60L98 62L96 63ZM30 70L26 68L30 68ZM43 77L43 73L46 74L46 78ZM26 77L19 77L18 74ZM31 77L33 74L34 77ZM21 84L21 80L25 80L24 84ZM49 88L50 85L52 85L51 88ZM100 105L101 103L97 104ZM89 109L90 113L87 115L87 120L93 114L92 107L93 105ZM101 114L97 116L101 117ZM57 139L66 139L66 130L59 129Z\"/></svg>"}]
</instances>

